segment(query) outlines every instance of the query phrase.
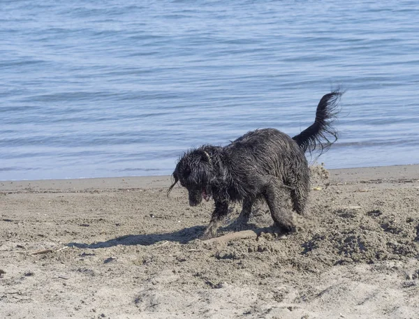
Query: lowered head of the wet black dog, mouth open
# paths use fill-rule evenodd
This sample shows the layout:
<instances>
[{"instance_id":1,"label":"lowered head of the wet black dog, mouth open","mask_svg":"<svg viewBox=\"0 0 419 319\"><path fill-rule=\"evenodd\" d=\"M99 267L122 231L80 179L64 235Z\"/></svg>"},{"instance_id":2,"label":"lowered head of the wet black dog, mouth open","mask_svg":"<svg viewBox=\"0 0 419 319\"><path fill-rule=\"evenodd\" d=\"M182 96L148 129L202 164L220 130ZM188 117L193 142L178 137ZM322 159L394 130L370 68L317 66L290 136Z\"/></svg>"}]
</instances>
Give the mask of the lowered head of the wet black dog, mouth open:
<instances>
[{"instance_id":1,"label":"lowered head of the wet black dog, mouth open","mask_svg":"<svg viewBox=\"0 0 419 319\"><path fill-rule=\"evenodd\" d=\"M172 174L173 184L168 189L168 193L179 181L189 192L189 205L196 206L212 198L212 183L216 179L214 163L207 151L203 149L193 149L182 158L176 165Z\"/></svg>"}]
</instances>

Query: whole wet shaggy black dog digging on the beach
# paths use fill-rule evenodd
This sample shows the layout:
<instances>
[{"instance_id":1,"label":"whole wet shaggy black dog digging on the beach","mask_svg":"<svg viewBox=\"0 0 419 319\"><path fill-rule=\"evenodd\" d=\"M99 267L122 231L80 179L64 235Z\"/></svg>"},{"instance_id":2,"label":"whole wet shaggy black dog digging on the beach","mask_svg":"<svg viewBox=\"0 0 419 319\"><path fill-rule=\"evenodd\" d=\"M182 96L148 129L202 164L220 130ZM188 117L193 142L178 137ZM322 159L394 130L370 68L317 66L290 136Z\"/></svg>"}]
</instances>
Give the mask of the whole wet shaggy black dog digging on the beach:
<instances>
[{"instance_id":1,"label":"whole wet shaggy black dog digging on the beach","mask_svg":"<svg viewBox=\"0 0 419 319\"><path fill-rule=\"evenodd\" d=\"M331 124L340 96L339 91L323 96L314 124L293 138L274 128L264 128L246 133L226 147L203 145L191 149L179 159L168 193L180 181L189 191L189 205L214 198L215 209L203 239L216 235L219 223L228 214L229 202L238 201L243 202L238 228L249 220L253 202L264 199L274 225L283 232L293 230L286 202L291 195L295 212L304 214L310 179L304 153L320 149L321 154L337 140Z\"/></svg>"}]
</instances>

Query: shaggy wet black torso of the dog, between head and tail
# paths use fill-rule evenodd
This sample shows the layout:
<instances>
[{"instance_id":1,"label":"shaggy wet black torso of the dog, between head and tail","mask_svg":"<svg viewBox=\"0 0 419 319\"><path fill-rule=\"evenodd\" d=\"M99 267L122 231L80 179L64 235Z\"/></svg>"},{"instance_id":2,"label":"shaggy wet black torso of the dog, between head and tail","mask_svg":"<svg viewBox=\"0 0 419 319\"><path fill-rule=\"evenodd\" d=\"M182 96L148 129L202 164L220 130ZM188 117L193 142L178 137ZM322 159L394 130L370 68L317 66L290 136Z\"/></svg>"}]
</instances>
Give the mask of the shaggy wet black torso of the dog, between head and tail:
<instances>
[{"instance_id":1,"label":"shaggy wet black torso of the dog, between head and tail","mask_svg":"<svg viewBox=\"0 0 419 319\"><path fill-rule=\"evenodd\" d=\"M264 128L242 135L223 147L223 160L232 178L233 187L228 188L230 200L260 198L272 177L288 191L301 187L303 193L308 191L309 170L304 151L277 129Z\"/></svg>"}]
</instances>

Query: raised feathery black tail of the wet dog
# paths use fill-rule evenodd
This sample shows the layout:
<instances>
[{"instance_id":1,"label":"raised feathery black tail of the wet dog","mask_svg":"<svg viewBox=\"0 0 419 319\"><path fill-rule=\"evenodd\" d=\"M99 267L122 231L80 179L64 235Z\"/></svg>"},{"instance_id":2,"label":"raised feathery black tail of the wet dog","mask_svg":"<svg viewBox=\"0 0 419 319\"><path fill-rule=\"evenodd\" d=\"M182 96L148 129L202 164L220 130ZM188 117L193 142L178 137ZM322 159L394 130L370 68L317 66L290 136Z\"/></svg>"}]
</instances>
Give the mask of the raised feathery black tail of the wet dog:
<instances>
[{"instance_id":1,"label":"raised feathery black tail of the wet dog","mask_svg":"<svg viewBox=\"0 0 419 319\"><path fill-rule=\"evenodd\" d=\"M304 153L309 151L311 154L312 151L319 149L320 156L337 141L337 131L332 123L336 119L337 105L342 94L343 92L337 89L323 96L317 105L314 123L293 137Z\"/></svg>"}]
</instances>

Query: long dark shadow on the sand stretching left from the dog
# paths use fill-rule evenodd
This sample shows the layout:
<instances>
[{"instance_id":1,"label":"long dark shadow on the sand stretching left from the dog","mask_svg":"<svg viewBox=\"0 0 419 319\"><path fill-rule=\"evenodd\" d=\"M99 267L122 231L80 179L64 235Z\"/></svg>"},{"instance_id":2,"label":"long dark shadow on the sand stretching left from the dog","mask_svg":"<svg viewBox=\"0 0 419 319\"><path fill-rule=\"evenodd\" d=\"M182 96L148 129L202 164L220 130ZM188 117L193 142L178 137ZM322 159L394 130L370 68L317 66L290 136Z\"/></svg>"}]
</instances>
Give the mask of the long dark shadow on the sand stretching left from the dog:
<instances>
[{"instance_id":1,"label":"long dark shadow on the sand stretching left from the dog","mask_svg":"<svg viewBox=\"0 0 419 319\"><path fill-rule=\"evenodd\" d=\"M110 239L106 242L96 242L94 244L84 244L84 243L68 243L69 247L77 248L108 248L117 245L141 245L149 246L156 244L156 242L168 241L168 242L179 242L180 244L186 244L193 239L197 239L205 230L205 226L193 226L190 228L184 228L176 232L166 232L163 234L147 234L147 235L125 235L122 237L117 237L115 239Z\"/></svg>"}]
</instances>

